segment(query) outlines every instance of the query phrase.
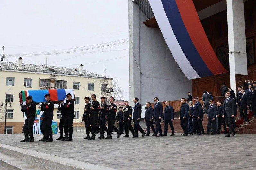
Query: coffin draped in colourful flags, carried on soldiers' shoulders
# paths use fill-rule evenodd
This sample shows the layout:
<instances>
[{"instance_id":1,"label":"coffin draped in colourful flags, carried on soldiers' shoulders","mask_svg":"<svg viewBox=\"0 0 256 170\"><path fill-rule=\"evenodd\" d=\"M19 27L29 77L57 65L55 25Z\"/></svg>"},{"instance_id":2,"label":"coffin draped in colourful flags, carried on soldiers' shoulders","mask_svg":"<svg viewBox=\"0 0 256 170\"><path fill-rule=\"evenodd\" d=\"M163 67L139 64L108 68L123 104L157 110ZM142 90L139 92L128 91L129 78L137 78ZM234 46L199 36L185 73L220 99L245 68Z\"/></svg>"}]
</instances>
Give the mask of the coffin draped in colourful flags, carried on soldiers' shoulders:
<instances>
[{"instance_id":1,"label":"coffin draped in colourful flags, carried on soldiers' shoulders","mask_svg":"<svg viewBox=\"0 0 256 170\"><path fill-rule=\"evenodd\" d=\"M48 93L51 95L50 99L53 103L59 103L63 99L66 99L66 95L68 93L70 93L72 95L72 99L75 100L73 89L24 90L19 93L20 103L26 101L28 96L32 96L35 103L46 102L44 95Z\"/></svg>"}]
</instances>

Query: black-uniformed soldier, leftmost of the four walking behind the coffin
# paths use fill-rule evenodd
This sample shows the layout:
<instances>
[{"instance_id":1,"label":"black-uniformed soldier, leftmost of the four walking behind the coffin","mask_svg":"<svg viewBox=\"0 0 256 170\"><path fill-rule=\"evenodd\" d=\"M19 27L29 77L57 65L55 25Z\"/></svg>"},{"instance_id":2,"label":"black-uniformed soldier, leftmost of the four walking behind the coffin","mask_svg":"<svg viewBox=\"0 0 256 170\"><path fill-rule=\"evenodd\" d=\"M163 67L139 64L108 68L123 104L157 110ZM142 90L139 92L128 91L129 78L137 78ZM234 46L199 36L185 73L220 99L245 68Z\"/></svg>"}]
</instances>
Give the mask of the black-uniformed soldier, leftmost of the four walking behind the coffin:
<instances>
[{"instance_id":1,"label":"black-uniformed soldier, leftmost of the four walking behind the coffin","mask_svg":"<svg viewBox=\"0 0 256 170\"><path fill-rule=\"evenodd\" d=\"M90 97L84 98L85 106L84 106L84 114L82 117L82 122L84 121L86 134L87 134L87 136L84 139L90 138L90 132L92 132L91 121L90 121L90 117L89 117L89 114L91 113L92 105L90 104L89 101L90 101Z\"/></svg>"}]
</instances>

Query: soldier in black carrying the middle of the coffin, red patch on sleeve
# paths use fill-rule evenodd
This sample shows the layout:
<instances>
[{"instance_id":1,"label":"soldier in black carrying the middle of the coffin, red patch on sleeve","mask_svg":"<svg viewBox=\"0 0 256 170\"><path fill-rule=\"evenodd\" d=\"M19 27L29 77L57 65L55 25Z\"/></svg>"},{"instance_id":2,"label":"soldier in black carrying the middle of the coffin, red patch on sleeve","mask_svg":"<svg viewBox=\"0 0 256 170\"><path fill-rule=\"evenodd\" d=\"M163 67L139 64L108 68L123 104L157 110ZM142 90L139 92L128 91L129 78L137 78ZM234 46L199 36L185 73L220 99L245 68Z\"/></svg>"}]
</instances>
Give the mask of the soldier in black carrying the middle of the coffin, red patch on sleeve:
<instances>
[{"instance_id":1,"label":"soldier in black carrying the middle of the coffin, red patch on sleeve","mask_svg":"<svg viewBox=\"0 0 256 170\"><path fill-rule=\"evenodd\" d=\"M43 133L44 137L39 141L52 142L52 119L54 104L50 100L50 94L46 94L44 95L44 97L46 102L44 104L42 104L41 102L39 103L39 106L41 106L41 111L44 112L44 119L40 126L41 132Z\"/></svg>"}]
</instances>

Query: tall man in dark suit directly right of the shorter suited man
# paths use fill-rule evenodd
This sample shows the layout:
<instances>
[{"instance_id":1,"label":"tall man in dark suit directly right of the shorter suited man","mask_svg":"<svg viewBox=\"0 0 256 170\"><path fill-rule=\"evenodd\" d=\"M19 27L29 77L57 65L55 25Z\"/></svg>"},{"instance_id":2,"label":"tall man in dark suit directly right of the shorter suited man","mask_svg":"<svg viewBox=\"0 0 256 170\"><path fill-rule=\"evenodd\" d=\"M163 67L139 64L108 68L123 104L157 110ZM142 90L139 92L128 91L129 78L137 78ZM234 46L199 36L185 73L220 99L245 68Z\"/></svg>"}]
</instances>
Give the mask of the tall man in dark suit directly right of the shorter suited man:
<instances>
[{"instance_id":1,"label":"tall man in dark suit directly right of the shorter suited man","mask_svg":"<svg viewBox=\"0 0 256 170\"><path fill-rule=\"evenodd\" d=\"M155 105L154 105L154 113L153 113L152 119L155 118L156 130L155 130L155 134L153 134L153 136L157 136L158 132L159 132L158 136L163 136L162 128L160 125L161 119L163 117L163 106L162 106L162 103L159 102L158 97L154 98L154 102L155 102Z\"/></svg>"}]
</instances>

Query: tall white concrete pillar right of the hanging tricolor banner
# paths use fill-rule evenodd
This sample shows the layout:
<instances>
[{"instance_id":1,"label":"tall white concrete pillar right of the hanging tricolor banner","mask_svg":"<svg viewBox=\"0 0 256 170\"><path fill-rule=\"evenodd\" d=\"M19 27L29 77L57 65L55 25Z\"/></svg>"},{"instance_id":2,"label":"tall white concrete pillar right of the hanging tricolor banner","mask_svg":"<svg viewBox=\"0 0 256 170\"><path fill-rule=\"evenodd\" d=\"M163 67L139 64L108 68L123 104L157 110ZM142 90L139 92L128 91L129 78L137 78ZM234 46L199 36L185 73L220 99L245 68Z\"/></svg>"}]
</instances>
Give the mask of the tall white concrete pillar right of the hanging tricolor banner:
<instances>
[{"instance_id":1,"label":"tall white concrete pillar right of the hanging tricolor banner","mask_svg":"<svg viewBox=\"0 0 256 170\"><path fill-rule=\"evenodd\" d=\"M247 75L243 0L227 0L230 86L236 93L236 74Z\"/></svg>"}]
</instances>

